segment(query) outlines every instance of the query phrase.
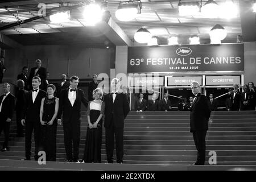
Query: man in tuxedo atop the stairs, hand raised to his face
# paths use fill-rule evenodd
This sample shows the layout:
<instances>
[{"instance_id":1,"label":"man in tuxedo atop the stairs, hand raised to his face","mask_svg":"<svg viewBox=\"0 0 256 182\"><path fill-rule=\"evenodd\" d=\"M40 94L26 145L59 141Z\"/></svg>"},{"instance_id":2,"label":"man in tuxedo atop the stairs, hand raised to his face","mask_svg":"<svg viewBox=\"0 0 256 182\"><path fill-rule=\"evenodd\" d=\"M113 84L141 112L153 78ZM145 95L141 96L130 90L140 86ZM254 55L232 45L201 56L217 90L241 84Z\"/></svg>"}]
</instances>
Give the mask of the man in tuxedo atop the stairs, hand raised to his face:
<instances>
[{"instance_id":1,"label":"man in tuxedo atop the stairs, hand raised to his face","mask_svg":"<svg viewBox=\"0 0 256 182\"><path fill-rule=\"evenodd\" d=\"M239 110L241 93L238 91L237 84L234 84L233 88L234 90L228 94L228 97L230 97L230 107L228 110Z\"/></svg>"}]
</instances>

